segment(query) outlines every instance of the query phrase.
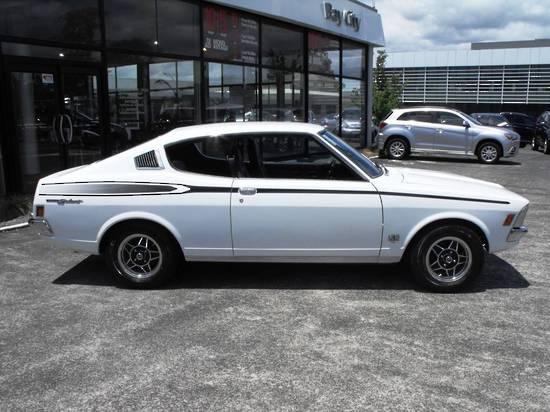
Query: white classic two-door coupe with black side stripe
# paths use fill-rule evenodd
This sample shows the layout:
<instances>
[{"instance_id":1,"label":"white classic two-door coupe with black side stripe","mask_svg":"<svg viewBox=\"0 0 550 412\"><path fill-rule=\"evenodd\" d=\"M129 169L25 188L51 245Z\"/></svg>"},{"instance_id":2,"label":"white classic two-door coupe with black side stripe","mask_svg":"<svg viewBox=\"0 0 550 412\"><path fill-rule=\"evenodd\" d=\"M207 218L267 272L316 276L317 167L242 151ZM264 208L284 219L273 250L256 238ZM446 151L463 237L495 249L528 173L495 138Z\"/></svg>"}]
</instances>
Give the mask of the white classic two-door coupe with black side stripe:
<instances>
[{"instance_id":1,"label":"white classic two-door coupe with black side stripe","mask_svg":"<svg viewBox=\"0 0 550 412\"><path fill-rule=\"evenodd\" d=\"M130 285L185 261L406 262L451 291L518 244L528 204L495 183L378 165L320 125L246 122L174 129L45 177L30 223L105 255Z\"/></svg>"}]
</instances>

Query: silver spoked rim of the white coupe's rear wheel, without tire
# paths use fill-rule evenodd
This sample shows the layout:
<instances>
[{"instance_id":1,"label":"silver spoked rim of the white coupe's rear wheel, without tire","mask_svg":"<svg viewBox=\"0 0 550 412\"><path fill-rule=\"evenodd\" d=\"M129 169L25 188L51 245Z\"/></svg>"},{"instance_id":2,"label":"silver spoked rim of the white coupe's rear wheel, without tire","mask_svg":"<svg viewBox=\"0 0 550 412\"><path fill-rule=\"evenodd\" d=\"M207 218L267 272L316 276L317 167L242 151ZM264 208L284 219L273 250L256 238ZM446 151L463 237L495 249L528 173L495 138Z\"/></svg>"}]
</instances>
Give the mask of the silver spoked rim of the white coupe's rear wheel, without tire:
<instances>
[{"instance_id":1,"label":"silver spoked rim of the white coupe's rear wheel, without tire","mask_svg":"<svg viewBox=\"0 0 550 412\"><path fill-rule=\"evenodd\" d=\"M120 269L129 277L143 280L155 276L162 266L162 250L149 235L135 233L120 242L117 251Z\"/></svg>"}]
</instances>

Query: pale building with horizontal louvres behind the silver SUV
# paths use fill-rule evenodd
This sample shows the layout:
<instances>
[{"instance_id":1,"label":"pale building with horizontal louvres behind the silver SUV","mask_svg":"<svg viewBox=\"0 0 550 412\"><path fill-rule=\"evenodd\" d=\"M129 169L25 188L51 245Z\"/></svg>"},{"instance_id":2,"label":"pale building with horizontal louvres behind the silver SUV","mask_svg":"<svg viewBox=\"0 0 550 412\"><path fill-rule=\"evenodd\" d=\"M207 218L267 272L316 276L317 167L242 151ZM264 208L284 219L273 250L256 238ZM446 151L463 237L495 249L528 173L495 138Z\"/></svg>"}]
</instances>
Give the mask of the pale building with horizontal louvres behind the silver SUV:
<instances>
[{"instance_id":1,"label":"pale building with horizontal louvres behind the silver SUV","mask_svg":"<svg viewBox=\"0 0 550 412\"><path fill-rule=\"evenodd\" d=\"M468 50L388 53L402 102L472 112L550 110L550 40L472 43Z\"/></svg>"}]
</instances>

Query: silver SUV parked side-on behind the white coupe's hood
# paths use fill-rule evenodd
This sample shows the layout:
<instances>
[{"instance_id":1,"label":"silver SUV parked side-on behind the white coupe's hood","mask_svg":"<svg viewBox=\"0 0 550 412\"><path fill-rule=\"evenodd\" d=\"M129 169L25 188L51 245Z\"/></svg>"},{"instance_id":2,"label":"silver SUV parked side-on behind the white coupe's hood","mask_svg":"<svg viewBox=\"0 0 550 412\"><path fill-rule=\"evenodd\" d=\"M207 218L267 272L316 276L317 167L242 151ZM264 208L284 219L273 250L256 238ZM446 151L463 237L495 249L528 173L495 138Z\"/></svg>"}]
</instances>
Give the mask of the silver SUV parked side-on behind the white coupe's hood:
<instances>
[{"instance_id":1,"label":"silver SUV parked side-on behind the white coupe's hood","mask_svg":"<svg viewBox=\"0 0 550 412\"><path fill-rule=\"evenodd\" d=\"M496 163L515 156L520 136L508 129L483 126L473 117L443 107L394 109L380 123L380 155L404 159L410 153L477 156Z\"/></svg>"}]
</instances>

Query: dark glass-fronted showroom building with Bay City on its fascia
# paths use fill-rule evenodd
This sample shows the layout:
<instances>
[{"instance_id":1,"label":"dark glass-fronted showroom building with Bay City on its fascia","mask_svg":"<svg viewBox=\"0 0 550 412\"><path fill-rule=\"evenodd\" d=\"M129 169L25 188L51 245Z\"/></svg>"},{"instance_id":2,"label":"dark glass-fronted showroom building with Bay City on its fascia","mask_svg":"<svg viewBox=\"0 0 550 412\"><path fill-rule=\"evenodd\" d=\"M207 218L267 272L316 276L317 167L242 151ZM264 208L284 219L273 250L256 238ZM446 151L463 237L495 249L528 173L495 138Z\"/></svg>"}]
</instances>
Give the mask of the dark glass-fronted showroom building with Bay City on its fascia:
<instances>
[{"instance_id":1,"label":"dark glass-fronted showroom building with Bay City on its fascia","mask_svg":"<svg viewBox=\"0 0 550 412\"><path fill-rule=\"evenodd\" d=\"M317 122L364 144L383 45L359 0L3 0L0 194L192 124Z\"/></svg>"}]
</instances>

